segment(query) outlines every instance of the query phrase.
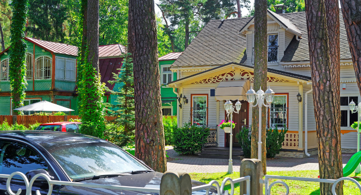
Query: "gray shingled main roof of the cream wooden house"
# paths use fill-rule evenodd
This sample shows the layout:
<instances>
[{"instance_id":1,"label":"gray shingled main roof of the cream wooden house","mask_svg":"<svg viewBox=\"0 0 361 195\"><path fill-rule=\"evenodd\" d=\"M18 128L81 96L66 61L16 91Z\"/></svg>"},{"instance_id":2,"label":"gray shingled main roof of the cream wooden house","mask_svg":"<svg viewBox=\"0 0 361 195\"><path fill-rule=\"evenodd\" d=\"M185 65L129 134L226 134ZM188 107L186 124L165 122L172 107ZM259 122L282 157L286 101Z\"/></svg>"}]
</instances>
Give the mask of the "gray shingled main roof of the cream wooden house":
<instances>
[{"instance_id":1,"label":"gray shingled main roof of the cream wooden house","mask_svg":"<svg viewBox=\"0 0 361 195\"><path fill-rule=\"evenodd\" d=\"M300 41L297 41L295 37L292 39L281 61L309 61L305 12L279 15L293 23L302 33ZM243 63L247 58L245 56L246 40L238 33L249 20L251 18L228 19L223 22L221 20L209 21L183 54L172 64L172 67L212 66L229 62ZM341 11L340 24L341 59L351 59Z\"/></svg>"}]
</instances>

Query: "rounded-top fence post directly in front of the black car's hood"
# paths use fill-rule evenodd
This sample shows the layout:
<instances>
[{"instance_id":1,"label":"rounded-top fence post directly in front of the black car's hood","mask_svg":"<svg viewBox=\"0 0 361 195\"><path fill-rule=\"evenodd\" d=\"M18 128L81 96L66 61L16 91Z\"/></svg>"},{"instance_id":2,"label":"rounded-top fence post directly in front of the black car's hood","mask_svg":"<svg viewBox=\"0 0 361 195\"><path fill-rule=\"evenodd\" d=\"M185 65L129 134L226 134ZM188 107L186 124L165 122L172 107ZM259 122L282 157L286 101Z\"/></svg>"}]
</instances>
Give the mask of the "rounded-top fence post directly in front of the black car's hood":
<instances>
[{"instance_id":1,"label":"rounded-top fence post directly in front of the black car's hood","mask_svg":"<svg viewBox=\"0 0 361 195\"><path fill-rule=\"evenodd\" d=\"M191 195L191 177L186 173L165 172L160 181L160 195Z\"/></svg>"}]
</instances>

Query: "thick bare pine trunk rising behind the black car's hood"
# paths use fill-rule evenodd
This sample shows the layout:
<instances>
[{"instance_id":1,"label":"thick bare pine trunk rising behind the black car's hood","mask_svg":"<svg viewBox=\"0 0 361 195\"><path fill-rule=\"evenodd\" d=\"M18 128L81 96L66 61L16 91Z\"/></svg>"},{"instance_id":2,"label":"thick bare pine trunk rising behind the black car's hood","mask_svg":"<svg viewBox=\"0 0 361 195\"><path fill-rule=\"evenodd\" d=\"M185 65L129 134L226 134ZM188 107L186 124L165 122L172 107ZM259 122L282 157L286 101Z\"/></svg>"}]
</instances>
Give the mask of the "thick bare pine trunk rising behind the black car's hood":
<instances>
[{"instance_id":1,"label":"thick bare pine trunk rising behind the black car's hood","mask_svg":"<svg viewBox=\"0 0 361 195\"><path fill-rule=\"evenodd\" d=\"M134 64L135 155L152 169L165 172L154 0L129 0L128 42Z\"/></svg>"}]
</instances>

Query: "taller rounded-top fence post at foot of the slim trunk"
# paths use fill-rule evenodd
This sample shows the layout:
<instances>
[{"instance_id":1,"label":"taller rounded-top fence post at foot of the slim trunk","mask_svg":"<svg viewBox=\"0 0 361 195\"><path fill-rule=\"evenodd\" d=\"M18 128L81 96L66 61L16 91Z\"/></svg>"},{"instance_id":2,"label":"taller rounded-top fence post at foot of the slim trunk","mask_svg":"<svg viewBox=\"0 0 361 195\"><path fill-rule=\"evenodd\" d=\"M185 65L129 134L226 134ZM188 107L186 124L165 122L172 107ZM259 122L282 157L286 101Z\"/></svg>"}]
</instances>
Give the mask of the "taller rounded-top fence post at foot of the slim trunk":
<instances>
[{"instance_id":1,"label":"taller rounded-top fence post at foot of the slim trunk","mask_svg":"<svg viewBox=\"0 0 361 195\"><path fill-rule=\"evenodd\" d=\"M240 177L251 176L251 195L262 195L263 185L260 183L260 179L263 177L262 162L259 159L244 158L241 161ZM240 183L240 194L246 194L246 182Z\"/></svg>"}]
</instances>

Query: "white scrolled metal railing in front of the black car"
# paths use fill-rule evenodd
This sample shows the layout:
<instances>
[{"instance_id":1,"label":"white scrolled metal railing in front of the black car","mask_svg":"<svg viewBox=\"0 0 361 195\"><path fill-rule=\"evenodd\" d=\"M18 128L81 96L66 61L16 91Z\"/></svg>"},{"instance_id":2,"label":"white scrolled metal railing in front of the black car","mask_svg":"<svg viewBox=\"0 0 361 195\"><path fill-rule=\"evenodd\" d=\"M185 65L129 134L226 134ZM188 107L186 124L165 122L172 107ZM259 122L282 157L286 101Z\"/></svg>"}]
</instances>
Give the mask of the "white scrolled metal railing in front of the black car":
<instances>
[{"instance_id":1,"label":"white scrolled metal railing in front of the black car","mask_svg":"<svg viewBox=\"0 0 361 195\"><path fill-rule=\"evenodd\" d=\"M18 189L18 191L16 193L14 193L10 189L10 181L14 176L20 176L24 180L26 195L32 195L31 189L33 187L34 181L38 177L43 177L47 181L48 186L49 186L47 195L52 194L53 185L77 186L77 187L86 187L86 188L104 188L104 189L111 189L111 190L127 190L127 191L148 192L148 193L160 194L159 188L140 188L140 187L131 187L131 186L101 185L101 184L87 184L87 183L79 183L79 182L57 181L57 180L51 180L50 177L45 174L37 174L30 181L28 181L28 179L26 178L26 176L23 173L14 172L10 175L0 174L0 178L7 179L6 180L6 190L9 195L20 195L20 193L22 191L21 189ZM246 195L250 195L250 178L251 178L250 176L240 177L237 179L231 179L231 178L227 177L222 181L221 186L217 181L212 180L208 184L193 187L192 192L206 190L205 195L208 195L212 186L216 185L215 187L217 189L218 195L228 195L228 190L226 190L225 192L223 192L223 190L224 190L225 183L227 181L229 181L230 185L231 185L231 193L230 194L233 195L234 194L234 184L240 183L242 181L246 181L246 191L247 191ZM36 191L36 195L40 195L39 190ZM213 195L215 195L215 193L213 193Z\"/></svg>"}]
</instances>

